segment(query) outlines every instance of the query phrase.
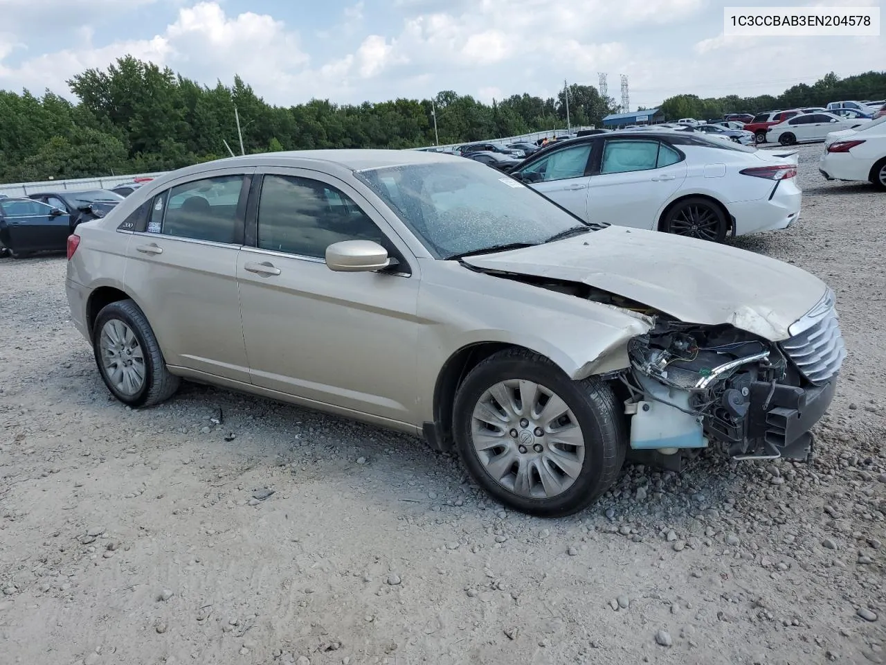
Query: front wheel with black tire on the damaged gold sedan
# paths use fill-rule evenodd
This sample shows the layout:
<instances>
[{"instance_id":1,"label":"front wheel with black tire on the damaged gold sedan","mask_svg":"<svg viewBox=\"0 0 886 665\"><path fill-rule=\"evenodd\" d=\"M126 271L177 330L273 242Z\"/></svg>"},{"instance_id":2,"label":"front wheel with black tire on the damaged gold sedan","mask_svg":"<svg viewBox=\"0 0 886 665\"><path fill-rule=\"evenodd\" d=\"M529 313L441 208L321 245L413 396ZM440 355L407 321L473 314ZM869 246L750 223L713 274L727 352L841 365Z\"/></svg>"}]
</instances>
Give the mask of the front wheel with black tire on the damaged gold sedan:
<instances>
[{"instance_id":1,"label":"front wheel with black tire on the damaged gold sedan","mask_svg":"<svg viewBox=\"0 0 886 665\"><path fill-rule=\"evenodd\" d=\"M503 382L514 385L514 392L506 388L512 397L518 394L517 386L535 384L536 395L554 395L550 399L558 397L559 402L533 401L538 407L536 418L521 424L518 413L532 417L522 403L517 412L514 399L508 410L491 402L491 389L497 390ZM565 411L546 422L561 411L555 409L546 416L545 407L550 404L559 404ZM489 409L498 411L498 430L476 417L476 413L494 413ZM453 410L455 448L473 479L502 504L539 517L562 517L593 504L618 478L627 447L622 411L611 388L600 379L573 381L547 358L521 348L509 349L478 364L459 387ZM503 421L505 413L513 417L509 423ZM553 428L549 427L552 423ZM482 446L483 437L488 447L478 450L475 441ZM579 445L564 445L567 441ZM501 460L497 467L495 460ZM571 473L565 472L567 465ZM487 466L498 472L498 478ZM520 469L525 473L518 473ZM541 477L542 469L546 479Z\"/></svg>"}]
</instances>

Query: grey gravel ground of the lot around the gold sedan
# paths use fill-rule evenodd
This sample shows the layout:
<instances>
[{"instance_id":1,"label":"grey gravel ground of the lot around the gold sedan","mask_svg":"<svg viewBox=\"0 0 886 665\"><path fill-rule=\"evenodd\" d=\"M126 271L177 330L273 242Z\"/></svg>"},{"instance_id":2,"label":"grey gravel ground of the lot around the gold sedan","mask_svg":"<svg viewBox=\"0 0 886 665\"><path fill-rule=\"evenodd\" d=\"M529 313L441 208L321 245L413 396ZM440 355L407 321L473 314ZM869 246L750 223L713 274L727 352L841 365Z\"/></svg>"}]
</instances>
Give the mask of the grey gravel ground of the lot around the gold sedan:
<instances>
[{"instance_id":1,"label":"grey gravel ground of the lot around the gold sedan","mask_svg":"<svg viewBox=\"0 0 886 665\"><path fill-rule=\"evenodd\" d=\"M820 150L795 227L736 241L837 293L819 456L628 465L563 520L315 412L195 386L130 411L64 258L0 261L0 662L886 662L886 196L826 183Z\"/></svg>"}]
</instances>

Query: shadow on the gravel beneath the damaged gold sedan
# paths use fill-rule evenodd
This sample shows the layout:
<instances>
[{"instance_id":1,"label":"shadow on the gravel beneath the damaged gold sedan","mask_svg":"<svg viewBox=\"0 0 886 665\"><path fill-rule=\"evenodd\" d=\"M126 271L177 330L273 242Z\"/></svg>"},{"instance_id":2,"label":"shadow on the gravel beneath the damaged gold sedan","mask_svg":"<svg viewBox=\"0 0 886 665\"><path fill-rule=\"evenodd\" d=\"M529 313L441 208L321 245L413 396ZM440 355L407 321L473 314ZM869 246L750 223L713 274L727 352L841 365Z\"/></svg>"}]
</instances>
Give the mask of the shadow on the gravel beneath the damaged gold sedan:
<instances>
[{"instance_id":1,"label":"shadow on the gravel beneath the damaged gold sedan","mask_svg":"<svg viewBox=\"0 0 886 665\"><path fill-rule=\"evenodd\" d=\"M65 369L59 371L59 367ZM299 479L293 476L292 481L296 484L306 480L340 486L358 480L368 484L375 489L373 503L382 511L401 512L401 501L434 503L428 501L429 492L451 497L437 502L443 504L441 510L455 510L455 497L462 497L463 507L481 511L503 507L470 480L455 452L435 452L417 436L190 381L183 381L165 403L128 411L106 391L86 349L69 349L41 359L28 371L45 378L44 390L54 387L58 391L59 407L86 411L88 418L97 421L122 422L134 412L137 423L126 427L159 426L171 433L163 436L170 438L172 446L205 439L207 455L248 458L250 475L256 481L275 468L292 465L299 468ZM33 389L27 382L22 387ZM358 461L361 458L363 463ZM627 461L610 490L573 519L592 519L603 529L626 524L693 527L703 515L731 505L730 495L761 481L755 480L760 472L752 464L730 464L713 448L703 450L681 473ZM538 525L549 523L527 519Z\"/></svg>"}]
</instances>

